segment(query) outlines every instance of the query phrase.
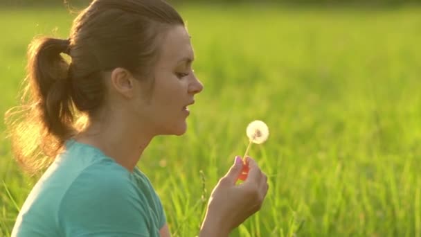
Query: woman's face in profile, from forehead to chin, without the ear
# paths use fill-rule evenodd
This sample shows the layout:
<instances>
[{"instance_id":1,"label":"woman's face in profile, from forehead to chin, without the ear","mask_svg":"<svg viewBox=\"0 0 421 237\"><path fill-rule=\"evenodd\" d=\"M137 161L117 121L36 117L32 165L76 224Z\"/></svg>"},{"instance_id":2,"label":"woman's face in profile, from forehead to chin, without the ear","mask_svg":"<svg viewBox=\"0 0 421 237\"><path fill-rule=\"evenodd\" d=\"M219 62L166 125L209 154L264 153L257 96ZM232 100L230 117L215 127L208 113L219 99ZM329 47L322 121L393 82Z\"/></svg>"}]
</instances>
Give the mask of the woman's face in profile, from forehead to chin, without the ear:
<instances>
[{"instance_id":1,"label":"woman's face in profile, from forehead to chin, without the ear","mask_svg":"<svg viewBox=\"0 0 421 237\"><path fill-rule=\"evenodd\" d=\"M193 70L194 53L190 36L183 26L173 26L162 39L159 60L154 68L152 93L142 96L138 109L141 120L154 134L186 132L187 106L203 89Z\"/></svg>"}]
</instances>

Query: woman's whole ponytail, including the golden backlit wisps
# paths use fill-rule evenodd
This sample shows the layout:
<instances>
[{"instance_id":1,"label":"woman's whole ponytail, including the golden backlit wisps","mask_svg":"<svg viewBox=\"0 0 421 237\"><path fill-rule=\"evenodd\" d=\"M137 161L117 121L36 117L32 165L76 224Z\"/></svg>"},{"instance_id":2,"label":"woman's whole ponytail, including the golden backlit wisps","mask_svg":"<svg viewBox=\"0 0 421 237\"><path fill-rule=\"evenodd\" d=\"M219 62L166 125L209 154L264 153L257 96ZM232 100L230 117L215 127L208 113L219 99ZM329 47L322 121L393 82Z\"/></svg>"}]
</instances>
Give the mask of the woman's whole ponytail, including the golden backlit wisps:
<instances>
[{"instance_id":1,"label":"woman's whole ponytail, including the golden backlit wisps","mask_svg":"<svg viewBox=\"0 0 421 237\"><path fill-rule=\"evenodd\" d=\"M15 159L30 173L45 168L42 157L51 161L75 132L71 66L61 55L69 47L69 40L48 37L31 42L22 105L6 112Z\"/></svg>"}]
</instances>

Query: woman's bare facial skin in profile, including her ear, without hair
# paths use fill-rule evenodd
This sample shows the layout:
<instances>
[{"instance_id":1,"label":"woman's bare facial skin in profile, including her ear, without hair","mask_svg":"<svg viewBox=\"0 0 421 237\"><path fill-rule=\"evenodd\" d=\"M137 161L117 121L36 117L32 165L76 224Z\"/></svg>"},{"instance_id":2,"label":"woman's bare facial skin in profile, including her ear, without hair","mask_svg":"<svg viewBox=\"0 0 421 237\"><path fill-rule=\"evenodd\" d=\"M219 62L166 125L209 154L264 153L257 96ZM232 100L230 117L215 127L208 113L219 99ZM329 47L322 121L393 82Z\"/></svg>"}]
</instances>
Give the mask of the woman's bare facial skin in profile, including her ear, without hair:
<instances>
[{"instance_id":1,"label":"woman's bare facial skin in profile, including her ear, without hair","mask_svg":"<svg viewBox=\"0 0 421 237\"><path fill-rule=\"evenodd\" d=\"M186 28L170 28L159 49L151 76L143 80L121 68L110 73L107 88L109 98L114 99L108 104L108 111L122 114L133 130L149 136L183 134L189 114L187 106L195 102L195 94L203 89L192 70L195 55Z\"/></svg>"}]
</instances>

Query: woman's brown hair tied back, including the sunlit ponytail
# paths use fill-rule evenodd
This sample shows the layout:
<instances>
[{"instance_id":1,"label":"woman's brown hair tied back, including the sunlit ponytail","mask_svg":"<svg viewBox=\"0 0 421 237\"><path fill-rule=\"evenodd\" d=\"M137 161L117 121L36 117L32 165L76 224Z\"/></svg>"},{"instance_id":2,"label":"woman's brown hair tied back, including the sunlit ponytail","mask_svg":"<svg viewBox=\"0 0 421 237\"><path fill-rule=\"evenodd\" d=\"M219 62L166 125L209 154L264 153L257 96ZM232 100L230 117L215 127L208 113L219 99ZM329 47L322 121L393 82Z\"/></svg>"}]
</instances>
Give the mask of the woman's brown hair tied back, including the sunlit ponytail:
<instances>
[{"instance_id":1,"label":"woman's brown hair tied back, including the sunlit ponytail","mask_svg":"<svg viewBox=\"0 0 421 237\"><path fill-rule=\"evenodd\" d=\"M159 36L174 25L184 26L183 19L165 1L94 0L73 21L68 40L33 40L22 105L5 116L19 164L30 173L50 164L78 132L80 115L89 118L104 103L102 73L123 67L147 76Z\"/></svg>"}]
</instances>

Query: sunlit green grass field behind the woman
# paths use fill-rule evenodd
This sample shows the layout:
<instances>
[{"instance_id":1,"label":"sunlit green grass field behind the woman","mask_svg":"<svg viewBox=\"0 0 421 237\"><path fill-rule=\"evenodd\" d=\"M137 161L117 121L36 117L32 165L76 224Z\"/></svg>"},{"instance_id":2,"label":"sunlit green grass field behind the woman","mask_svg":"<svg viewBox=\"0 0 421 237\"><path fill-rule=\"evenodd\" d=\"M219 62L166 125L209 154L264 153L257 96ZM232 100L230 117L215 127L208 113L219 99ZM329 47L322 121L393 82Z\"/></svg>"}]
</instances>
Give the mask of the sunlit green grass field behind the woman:
<instances>
[{"instance_id":1,"label":"sunlit green grass field behind the woman","mask_svg":"<svg viewBox=\"0 0 421 237\"><path fill-rule=\"evenodd\" d=\"M179 10L205 89L188 132L154 139L139 163L173 236L198 233L204 200L261 119L271 135L250 155L269 193L232 236L421 237L421 8ZM30 39L67 37L73 17L0 10L1 114L16 104ZM37 177L19 171L3 139L0 180L9 236Z\"/></svg>"}]
</instances>

